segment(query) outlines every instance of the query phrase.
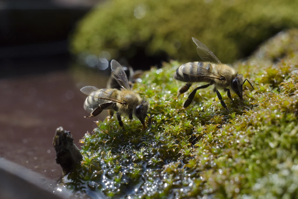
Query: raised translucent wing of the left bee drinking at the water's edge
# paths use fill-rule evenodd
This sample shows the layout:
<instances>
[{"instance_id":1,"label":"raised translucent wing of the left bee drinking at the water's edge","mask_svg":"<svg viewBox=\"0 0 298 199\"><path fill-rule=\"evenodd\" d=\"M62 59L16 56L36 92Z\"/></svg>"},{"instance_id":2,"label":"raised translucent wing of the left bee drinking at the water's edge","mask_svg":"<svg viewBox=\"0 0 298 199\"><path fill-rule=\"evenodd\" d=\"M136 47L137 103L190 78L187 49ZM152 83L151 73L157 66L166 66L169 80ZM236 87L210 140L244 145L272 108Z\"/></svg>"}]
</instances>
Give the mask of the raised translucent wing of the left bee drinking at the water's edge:
<instances>
[{"instance_id":1,"label":"raised translucent wing of the left bee drinking at the water's edge","mask_svg":"<svg viewBox=\"0 0 298 199\"><path fill-rule=\"evenodd\" d=\"M118 84L127 90L131 90L127 76L122 68L122 66L116 60L111 61L112 77L116 79Z\"/></svg>"}]
</instances>

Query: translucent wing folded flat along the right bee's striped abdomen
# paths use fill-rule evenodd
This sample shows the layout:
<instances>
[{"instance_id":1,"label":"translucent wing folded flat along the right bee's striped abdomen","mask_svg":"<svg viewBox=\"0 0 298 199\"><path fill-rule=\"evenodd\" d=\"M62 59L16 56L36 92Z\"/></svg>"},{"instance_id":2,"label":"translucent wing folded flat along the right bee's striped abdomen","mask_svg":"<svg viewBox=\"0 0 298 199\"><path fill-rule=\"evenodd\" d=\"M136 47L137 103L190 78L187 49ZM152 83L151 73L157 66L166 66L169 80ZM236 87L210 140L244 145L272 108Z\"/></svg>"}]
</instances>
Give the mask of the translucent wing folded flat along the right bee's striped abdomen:
<instances>
[{"instance_id":1,"label":"translucent wing folded flat along the right bee's striped abdomen","mask_svg":"<svg viewBox=\"0 0 298 199\"><path fill-rule=\"evenodd\" d=\"M194 62L186 63L182 65L182 72L184 74L195 76L195 77L208 77L212 79L219 79L221 80L221 77L218 75L215 75L211 71L207 70L206 68L203 68L199 66L198 62L197 64Z\"/></svg>"}]
</instances>

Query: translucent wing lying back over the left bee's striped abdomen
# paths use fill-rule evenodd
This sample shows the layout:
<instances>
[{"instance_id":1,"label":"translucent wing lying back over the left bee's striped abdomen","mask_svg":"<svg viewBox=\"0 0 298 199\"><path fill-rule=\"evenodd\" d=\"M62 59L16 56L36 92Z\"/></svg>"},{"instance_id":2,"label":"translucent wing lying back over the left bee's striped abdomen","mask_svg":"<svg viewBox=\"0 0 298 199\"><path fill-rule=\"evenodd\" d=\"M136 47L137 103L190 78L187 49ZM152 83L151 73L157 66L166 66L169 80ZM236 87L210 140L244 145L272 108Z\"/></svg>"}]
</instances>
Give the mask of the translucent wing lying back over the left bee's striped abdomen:
<instances>
[{"instance_id":1,"label":"translucent wing lying back over the left bee's striped abdomen","mask_svg":"<svg viewBox=\"0 0 298 199\"><path fill-rule=\"evenodd\" d=\"M89 95L91 97L95 97L95 98L99 98L99 99L103 99L103 100L109 100L112 102L117 102L117 103L123 104L123 102L118 100L116 97L112 96L111 94L109 94L103 90L96 88L95 86L85 86L85 87L81 88L81 91L82 91L82 93Z\"/></svg>"}]
</instances>

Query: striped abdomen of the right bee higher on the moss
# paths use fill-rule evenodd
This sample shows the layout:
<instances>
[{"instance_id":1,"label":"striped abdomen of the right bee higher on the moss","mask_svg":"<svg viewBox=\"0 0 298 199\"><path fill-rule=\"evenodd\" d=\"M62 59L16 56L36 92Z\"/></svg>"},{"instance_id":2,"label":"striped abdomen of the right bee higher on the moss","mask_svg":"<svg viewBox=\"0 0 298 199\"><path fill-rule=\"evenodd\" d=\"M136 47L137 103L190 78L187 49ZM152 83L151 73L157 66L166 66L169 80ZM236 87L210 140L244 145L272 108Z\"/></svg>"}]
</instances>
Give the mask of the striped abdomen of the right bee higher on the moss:
<instances>
[{"instance_id":1,"label":"striped abdomen of the right bee higher on the moss","mask_svg":"<svg viewBox=\"0 0 298 199\"><path fill-rule=\"evenodd\" d=\"M210 82L208 71L212 71L213 64L209 62L188 62L177 68L174 79L182 82Z\"/></svg>"}]
</instances>

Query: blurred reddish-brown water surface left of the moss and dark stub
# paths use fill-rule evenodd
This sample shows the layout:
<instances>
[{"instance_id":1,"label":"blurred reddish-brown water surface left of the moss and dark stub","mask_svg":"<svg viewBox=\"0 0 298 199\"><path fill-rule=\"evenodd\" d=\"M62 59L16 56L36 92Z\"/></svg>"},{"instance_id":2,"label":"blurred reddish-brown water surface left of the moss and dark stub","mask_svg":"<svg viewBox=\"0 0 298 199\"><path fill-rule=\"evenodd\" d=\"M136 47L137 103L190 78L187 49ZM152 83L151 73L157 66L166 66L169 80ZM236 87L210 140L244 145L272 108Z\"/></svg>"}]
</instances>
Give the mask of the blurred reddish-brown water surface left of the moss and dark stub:
<instances>
[{"instance_id":1,"label":"blurred reddish-brown water surface left of the moss and dark stub","mask_svg":"<svg viewBox=\"0 0 298 199\"><path fill-rule=\"evenodd\" d=\"M84 119L85 97L67 71L0 79L0 157L56 178L55 129L71 131L77 145L96 126ZM105 113L99 119L105 117ZM80 147L79 147L80 149Z\"/></svg>"}]
</instances>

